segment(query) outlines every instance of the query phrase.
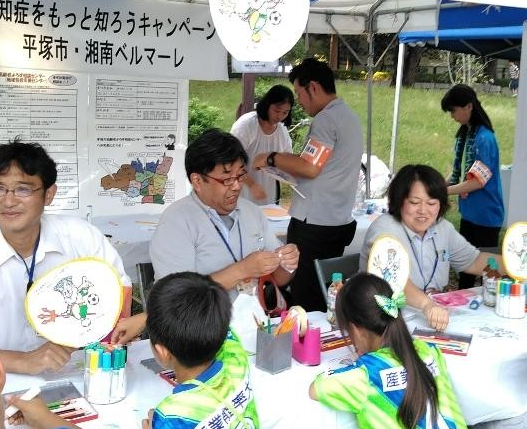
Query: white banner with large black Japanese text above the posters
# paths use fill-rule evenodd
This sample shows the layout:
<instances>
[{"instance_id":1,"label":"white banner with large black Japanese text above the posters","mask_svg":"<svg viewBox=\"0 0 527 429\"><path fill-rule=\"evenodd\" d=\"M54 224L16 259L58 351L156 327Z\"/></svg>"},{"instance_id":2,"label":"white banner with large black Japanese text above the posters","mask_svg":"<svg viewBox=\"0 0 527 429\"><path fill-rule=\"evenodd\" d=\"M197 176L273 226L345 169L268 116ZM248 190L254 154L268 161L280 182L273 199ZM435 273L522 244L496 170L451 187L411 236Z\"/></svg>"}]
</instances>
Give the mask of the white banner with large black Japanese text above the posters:
<instances>
[{"instance_id":1,"label":"white banner with large black Japanese text above the posters","mask_svg":"<svg viewBox=\"0 0 527 429\"><path fill-rule=\"evenodd\" d=\"M0 66L228 78L209 7L165 0L2 0Z\"/></svg>"}]
</instances>

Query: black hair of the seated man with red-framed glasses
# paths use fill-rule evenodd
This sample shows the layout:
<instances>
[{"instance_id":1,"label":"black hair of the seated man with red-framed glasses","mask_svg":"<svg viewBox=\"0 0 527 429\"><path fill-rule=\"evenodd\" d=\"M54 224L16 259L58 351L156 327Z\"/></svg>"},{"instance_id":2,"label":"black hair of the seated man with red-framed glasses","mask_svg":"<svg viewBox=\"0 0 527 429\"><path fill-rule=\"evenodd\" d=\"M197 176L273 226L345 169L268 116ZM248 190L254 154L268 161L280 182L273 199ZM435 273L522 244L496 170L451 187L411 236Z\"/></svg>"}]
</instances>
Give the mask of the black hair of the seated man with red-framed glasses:
<instances>
[{"instance_id":1,"label":"black hair of the seated man with red-framed glasses","mask_svg":"<svg viewBox=\"0 0 527 429\"><path fill-rule=\"evenodd\" d=\"M212 128L191 142L185 152L185 170L190 180L192 173L208 174L216 165L227 165L241 159L249 161L240 140L232 134Z\"/></svg>"}]
</instances>

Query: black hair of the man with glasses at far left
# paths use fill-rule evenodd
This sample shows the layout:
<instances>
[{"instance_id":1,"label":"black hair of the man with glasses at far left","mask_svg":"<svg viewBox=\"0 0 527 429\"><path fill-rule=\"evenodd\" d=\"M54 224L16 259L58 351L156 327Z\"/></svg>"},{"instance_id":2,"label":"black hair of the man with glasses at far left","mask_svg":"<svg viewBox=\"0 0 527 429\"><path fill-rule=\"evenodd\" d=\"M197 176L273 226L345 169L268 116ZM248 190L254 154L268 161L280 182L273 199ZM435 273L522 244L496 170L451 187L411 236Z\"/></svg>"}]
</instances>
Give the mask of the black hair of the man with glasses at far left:
<instances>
[{"instance_id":1,"label":"black hair of the man with glasses at far left","mask_svg":"<svg viewBox=\"0 0 527 429\"><path fill-rule=\"evenodd\" d=\"M22 143L19 138L0 145L0 174L16 164L29 176L38 176L44 189L57 181L57 165L38 143Z\"/></svg>"}]
</instances>

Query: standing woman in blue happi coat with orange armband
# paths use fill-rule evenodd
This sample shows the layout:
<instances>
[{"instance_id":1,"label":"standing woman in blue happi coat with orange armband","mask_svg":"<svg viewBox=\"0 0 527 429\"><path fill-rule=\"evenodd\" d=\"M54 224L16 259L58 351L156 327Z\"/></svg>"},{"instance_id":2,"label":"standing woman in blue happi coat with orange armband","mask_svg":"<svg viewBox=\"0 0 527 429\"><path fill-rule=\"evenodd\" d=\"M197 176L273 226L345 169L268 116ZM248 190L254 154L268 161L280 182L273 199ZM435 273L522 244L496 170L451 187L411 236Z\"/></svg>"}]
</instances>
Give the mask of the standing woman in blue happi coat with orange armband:
<instances>
[{"instance_id":1,"label":"standing woman in blue happi coat with orange armband","mask_svg":"<svg viewBox=\"0 0 527 429\"><path fill-rule=\"evenodd\" d=\"M476 92L458 84L448 90L441 108L460 124L456 133L448 194L459 195L459 233L476 247L497 247L504 220L500 153L489 116ZM459 274L459 288L474 286L473 274Z\"/></svg>"}]
</instances>

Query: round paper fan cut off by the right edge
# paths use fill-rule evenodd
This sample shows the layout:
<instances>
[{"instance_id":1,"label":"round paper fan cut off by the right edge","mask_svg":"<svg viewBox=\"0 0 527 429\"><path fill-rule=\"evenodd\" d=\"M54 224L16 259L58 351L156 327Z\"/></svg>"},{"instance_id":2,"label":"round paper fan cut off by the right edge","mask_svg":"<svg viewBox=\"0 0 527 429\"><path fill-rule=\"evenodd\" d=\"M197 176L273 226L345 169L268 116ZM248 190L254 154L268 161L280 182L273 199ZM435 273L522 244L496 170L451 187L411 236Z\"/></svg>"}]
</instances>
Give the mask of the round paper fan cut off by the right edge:
<instances>
[{"instance_id":1,"label":"round paper fan cut off by the right edge","mask_svg":"<svg viewBox=\"0 0 527 429\"><path fill-rule=\"evenodd\" d=\"M503 264L509 277L527 279L527 223L513 223L503 238Z\"/></svg>"}]
</instances>

